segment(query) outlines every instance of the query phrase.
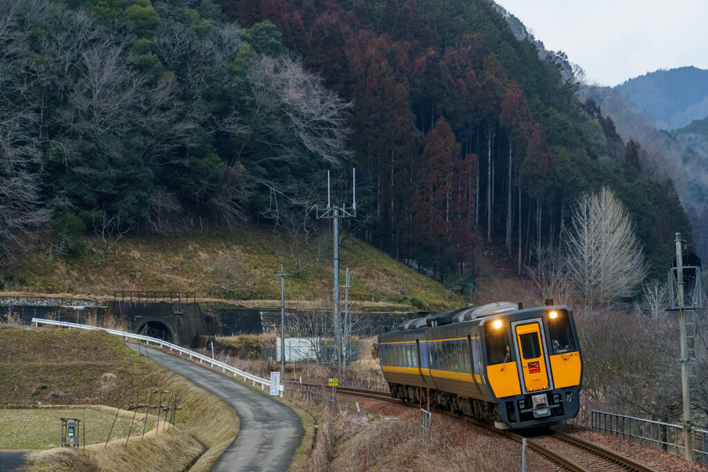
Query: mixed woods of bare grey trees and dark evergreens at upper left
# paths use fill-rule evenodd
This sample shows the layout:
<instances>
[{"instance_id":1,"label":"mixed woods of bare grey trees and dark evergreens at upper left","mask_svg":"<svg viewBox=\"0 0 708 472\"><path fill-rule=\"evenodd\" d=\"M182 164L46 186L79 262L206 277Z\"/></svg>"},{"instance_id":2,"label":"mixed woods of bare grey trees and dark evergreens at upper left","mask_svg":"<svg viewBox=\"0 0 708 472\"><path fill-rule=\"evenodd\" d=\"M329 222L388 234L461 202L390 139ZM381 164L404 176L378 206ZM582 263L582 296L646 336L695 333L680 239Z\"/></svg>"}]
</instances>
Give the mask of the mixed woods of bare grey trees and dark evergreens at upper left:
<instances>
[{"instance_id":1,"label":"mixed woods of bare grey trees and dark evergreens at upper left","mask_svg":"<svg viewBox=\"0 0 708 472\"><path fill-rule=\"evenodd\" d=\"M0 265L38 229L71 255L86 231L280 217L348 159L346 103L273 25L190 4L0 2Z\"/></svg>"}]
</instances>

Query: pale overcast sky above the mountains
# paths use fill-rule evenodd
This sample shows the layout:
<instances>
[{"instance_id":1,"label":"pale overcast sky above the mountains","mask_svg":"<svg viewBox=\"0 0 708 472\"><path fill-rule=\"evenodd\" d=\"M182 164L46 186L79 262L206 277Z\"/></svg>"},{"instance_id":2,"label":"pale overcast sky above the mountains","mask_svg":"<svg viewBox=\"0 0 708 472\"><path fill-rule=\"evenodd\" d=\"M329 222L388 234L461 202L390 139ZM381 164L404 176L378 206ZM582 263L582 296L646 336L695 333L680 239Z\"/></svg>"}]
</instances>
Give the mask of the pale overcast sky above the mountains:
<instances>
[{"instance_id":1,"label":"pale overcast sky above the mountains","mask_svg":"<svg viewBox=\"0 0 708 472\"><path fill-rule=\"evenodd\" d=\"M588 84L615 86L658 69L708 69L708 0L496 0Z\"/></svg>"}]
</instances>

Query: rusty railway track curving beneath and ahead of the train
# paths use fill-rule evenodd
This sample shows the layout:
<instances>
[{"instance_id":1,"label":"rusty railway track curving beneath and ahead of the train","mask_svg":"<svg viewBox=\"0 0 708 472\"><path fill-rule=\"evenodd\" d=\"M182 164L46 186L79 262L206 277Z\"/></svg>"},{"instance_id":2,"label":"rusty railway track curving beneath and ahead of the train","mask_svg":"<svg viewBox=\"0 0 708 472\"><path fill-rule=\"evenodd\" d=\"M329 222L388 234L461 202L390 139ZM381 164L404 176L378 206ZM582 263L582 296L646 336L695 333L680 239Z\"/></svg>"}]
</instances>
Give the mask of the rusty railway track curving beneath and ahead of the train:
<instances>
[{"instance_id":1,"label":"rusty railway track curving beneath and ahead of the train","mask_svg":"<svg viewBox=\"0 0 708 472\"><path fill-rule=\"evenodd\" d=\"M316 384L297 384L292 382L292 386L307 386L309 388L321 387ZM336 393L340 395L359 396L363 398L373 398L375 400L387 401L390 403L401 403L403 405L416 406L413 403L406 403L396 398L391 398L390 393L365 388L338 386ZM563 432L551 429L537 429L528 432L510 432L508 430L498 430L495 427L468 416L451 413L446 410L437 410L438 413L462 418L479 427L484 427L489 431L501 434L516 442L523 442L526 438L528 447L537 452L552 464L568 471L577 472L605 472L605 471L633 471L633 472L656 472L653 468L639 464L627 457L617 454L596 444L583 441L577 437L570 436Z\"/></svg>"}]
</instances>

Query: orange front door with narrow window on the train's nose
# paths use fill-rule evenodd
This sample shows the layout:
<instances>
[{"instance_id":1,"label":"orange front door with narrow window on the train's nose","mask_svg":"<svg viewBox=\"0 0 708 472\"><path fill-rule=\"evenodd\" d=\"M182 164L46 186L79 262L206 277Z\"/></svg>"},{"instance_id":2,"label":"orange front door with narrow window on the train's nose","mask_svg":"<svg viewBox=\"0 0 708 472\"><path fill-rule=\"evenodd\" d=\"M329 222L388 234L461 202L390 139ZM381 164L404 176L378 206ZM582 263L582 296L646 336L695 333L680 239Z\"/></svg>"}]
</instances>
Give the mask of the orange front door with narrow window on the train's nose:
<instances>
[{"instance_id":1,"label":"orange front door with narrow window on the train's nose","mask_svg":"<svg viewBox=\"0 0 708 472\"><path fill-rule=\"evenodd\" d=\"M512 323L516 337L517 362L525 393L553 388L549 378L548 353L541 318Z\"/></svg>"}]
</instances>

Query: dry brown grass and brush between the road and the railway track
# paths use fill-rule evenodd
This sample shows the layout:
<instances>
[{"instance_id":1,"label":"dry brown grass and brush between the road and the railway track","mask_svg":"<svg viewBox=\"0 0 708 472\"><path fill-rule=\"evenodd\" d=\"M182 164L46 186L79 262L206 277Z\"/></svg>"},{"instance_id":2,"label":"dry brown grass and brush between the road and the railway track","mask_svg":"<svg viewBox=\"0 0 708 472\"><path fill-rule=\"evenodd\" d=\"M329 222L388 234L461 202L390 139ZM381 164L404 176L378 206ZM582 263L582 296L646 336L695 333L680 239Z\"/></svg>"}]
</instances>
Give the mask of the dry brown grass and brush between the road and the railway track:
<instances>
[{"instance_id":1,"label":"dry brown grass and brush between the road and the railway track","mask_svg":"<svg viewBox=\"0 0 708 472\"><path fill-rule=\"evenodd\" d=\"M443 415L433 416L433 427L421 438L416 408L358 399L340 402L334 422L335 444L324 468L358 472L366 461L372 471L513 471L521 466L520 444L493 432ZM551 467L530 455L532 471Z\"/></svg>"}]
</instances>

